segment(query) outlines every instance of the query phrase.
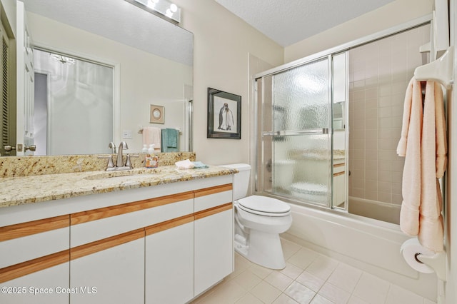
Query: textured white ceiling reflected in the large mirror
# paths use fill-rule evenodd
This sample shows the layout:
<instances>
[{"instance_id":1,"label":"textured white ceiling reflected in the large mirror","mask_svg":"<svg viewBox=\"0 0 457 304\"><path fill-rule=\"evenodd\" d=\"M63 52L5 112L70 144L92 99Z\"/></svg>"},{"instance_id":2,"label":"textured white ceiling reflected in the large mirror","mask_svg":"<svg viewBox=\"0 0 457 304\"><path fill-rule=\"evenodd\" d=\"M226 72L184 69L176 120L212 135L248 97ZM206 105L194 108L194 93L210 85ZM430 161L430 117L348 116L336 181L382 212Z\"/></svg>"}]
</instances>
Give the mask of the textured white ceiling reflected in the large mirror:
<instances>
[{"instance_id":1,"label":"textured white ceiling reflected in the large mirror","mask_svg":"<svg viewBox=\"0 0 457 304\"><path fill-rule=\"evenodd\" d=\"M193 35L124 0L21 0L26 11L192 65ZM33 39L33 37L32 37Z\"/></svg>"}]
</instances>

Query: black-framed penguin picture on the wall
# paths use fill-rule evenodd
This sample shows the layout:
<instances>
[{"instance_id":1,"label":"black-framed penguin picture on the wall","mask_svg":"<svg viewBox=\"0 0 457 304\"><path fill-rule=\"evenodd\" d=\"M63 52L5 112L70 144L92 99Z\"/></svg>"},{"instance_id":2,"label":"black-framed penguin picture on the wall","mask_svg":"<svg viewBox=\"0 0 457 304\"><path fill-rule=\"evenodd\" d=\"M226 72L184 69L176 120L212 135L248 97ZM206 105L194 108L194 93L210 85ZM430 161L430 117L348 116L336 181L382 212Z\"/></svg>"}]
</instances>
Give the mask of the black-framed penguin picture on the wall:
<instances>
[{"instance_id":1,"label":"black-framed penguin picture on the wall","mask_svg":"<svg viewBox=\"0 0 457 304\"><path fill-rule=\"evenodd\" d=\"M208 88L206 137L241 139L241 96Z\"/></svg>"}]
</instances>

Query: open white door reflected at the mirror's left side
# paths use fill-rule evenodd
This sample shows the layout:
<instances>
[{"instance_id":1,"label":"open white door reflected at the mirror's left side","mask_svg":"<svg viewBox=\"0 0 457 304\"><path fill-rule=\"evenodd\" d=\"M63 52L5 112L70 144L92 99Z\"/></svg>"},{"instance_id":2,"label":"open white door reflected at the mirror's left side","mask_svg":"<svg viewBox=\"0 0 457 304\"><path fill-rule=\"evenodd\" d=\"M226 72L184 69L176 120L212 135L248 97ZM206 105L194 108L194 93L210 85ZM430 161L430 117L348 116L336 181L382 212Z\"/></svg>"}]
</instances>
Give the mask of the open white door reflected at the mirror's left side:
<instances>
[{"instance_id":1,"label":"open white door reflected at the mirror's left side","mask_svg":"<svg viewBox=\"0 0 457 304\"><path fill-rule=\"evenodd\" d=\"M17 1L16 19L16 144L34 144L34 55L26 25L24 4ZM18 146L16 153L33 155Z\"/></svg>"}]
</instances>

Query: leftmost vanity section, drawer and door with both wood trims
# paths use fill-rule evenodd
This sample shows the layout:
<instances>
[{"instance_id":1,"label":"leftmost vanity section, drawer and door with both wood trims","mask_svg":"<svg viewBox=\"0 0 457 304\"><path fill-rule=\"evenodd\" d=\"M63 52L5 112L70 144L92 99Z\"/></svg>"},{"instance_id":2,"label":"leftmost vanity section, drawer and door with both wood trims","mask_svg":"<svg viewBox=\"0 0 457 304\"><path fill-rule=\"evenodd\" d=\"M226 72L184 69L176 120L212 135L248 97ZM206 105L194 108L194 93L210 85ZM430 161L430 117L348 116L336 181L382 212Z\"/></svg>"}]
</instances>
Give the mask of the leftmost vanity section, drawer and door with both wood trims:
<instances>
[{"instance_id":1,"label":"leftmost vanity section, drawer and door with both wood trims","mask_svg":"<svg viewBox=\"0 0 457 304\"><path fill-rule=\"evenodd\" d=\"M0 303L68 303L69 216L0 228Z\"/></svg>"}]
</instances>

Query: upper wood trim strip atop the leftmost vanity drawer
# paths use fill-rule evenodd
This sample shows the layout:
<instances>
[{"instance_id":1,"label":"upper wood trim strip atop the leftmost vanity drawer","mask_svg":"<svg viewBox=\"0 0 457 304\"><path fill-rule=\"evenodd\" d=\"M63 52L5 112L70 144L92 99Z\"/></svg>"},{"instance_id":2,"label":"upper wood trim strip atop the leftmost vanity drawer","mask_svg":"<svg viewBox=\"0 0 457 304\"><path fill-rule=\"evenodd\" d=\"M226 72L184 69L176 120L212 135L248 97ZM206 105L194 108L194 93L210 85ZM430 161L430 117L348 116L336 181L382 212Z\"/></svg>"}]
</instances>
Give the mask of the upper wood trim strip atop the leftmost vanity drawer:
<instances>
[{"instance_id":1,"label":"upper wood trim strip atop the leftmost vanity drawer","mask_svg":"<svg viewBox=\"0 0 457 304\"><path fill-rule=\"evenodd\" d=\"M69 215L56 216L54 218L44 218L42 220L4 226L0 228L0 241L65 228L70 226L69 219Z\"/></svg>"}]
</instances>

